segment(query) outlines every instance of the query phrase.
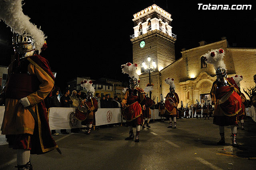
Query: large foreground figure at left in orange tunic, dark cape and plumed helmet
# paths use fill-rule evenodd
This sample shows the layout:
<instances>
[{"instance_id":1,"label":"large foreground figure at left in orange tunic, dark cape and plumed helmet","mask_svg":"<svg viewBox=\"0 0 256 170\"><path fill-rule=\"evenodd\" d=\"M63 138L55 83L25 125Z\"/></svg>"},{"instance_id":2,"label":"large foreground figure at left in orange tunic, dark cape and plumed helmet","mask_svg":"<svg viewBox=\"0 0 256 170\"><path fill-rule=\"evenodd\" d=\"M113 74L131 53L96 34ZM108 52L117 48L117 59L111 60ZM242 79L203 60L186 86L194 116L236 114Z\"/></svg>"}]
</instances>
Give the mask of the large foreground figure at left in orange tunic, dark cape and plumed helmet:
<instances>
[{"instance_id":1,"label":"large foreground figure at left in orange tunic, dark cape and plumed helmet","mask_svg":"<svg viewBox=\"0 0 256 170\"><path fill-rule=\"evenodd\" d=\"M44 104L44 98L54 87L54 76L48 61L36 53L46 48L46 37L23 14L21 2L1 1L0 4L0 18L14 32L15 51L4 89L6 99L1 130L9 147L17 150L18 170L32 170L30 154L60 150L52 138Z\"/></svg>"}]
</instances>

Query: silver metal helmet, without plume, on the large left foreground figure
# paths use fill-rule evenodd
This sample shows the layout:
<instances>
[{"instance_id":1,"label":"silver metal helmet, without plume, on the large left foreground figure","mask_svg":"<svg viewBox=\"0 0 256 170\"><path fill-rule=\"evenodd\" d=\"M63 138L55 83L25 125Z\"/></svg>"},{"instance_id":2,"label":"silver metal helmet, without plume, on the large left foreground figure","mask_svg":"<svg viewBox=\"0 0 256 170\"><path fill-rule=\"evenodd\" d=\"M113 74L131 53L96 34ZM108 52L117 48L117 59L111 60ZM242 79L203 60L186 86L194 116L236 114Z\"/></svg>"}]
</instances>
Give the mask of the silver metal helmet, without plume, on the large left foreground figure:
<instances>
[{"instance_id":1,"label":"silver metal helmet, without plume, on the large left foreground figure","mask_svg":"<svg viewBox=\"0 0 256 170\"><path fill-rule=\"evenodd\" d=\"M14 45L14 52L24 54L22 58L32 56L36 48L36 40L30 36L14 34L12 36L12 44Z\"/></svg>"}]
</instances>

